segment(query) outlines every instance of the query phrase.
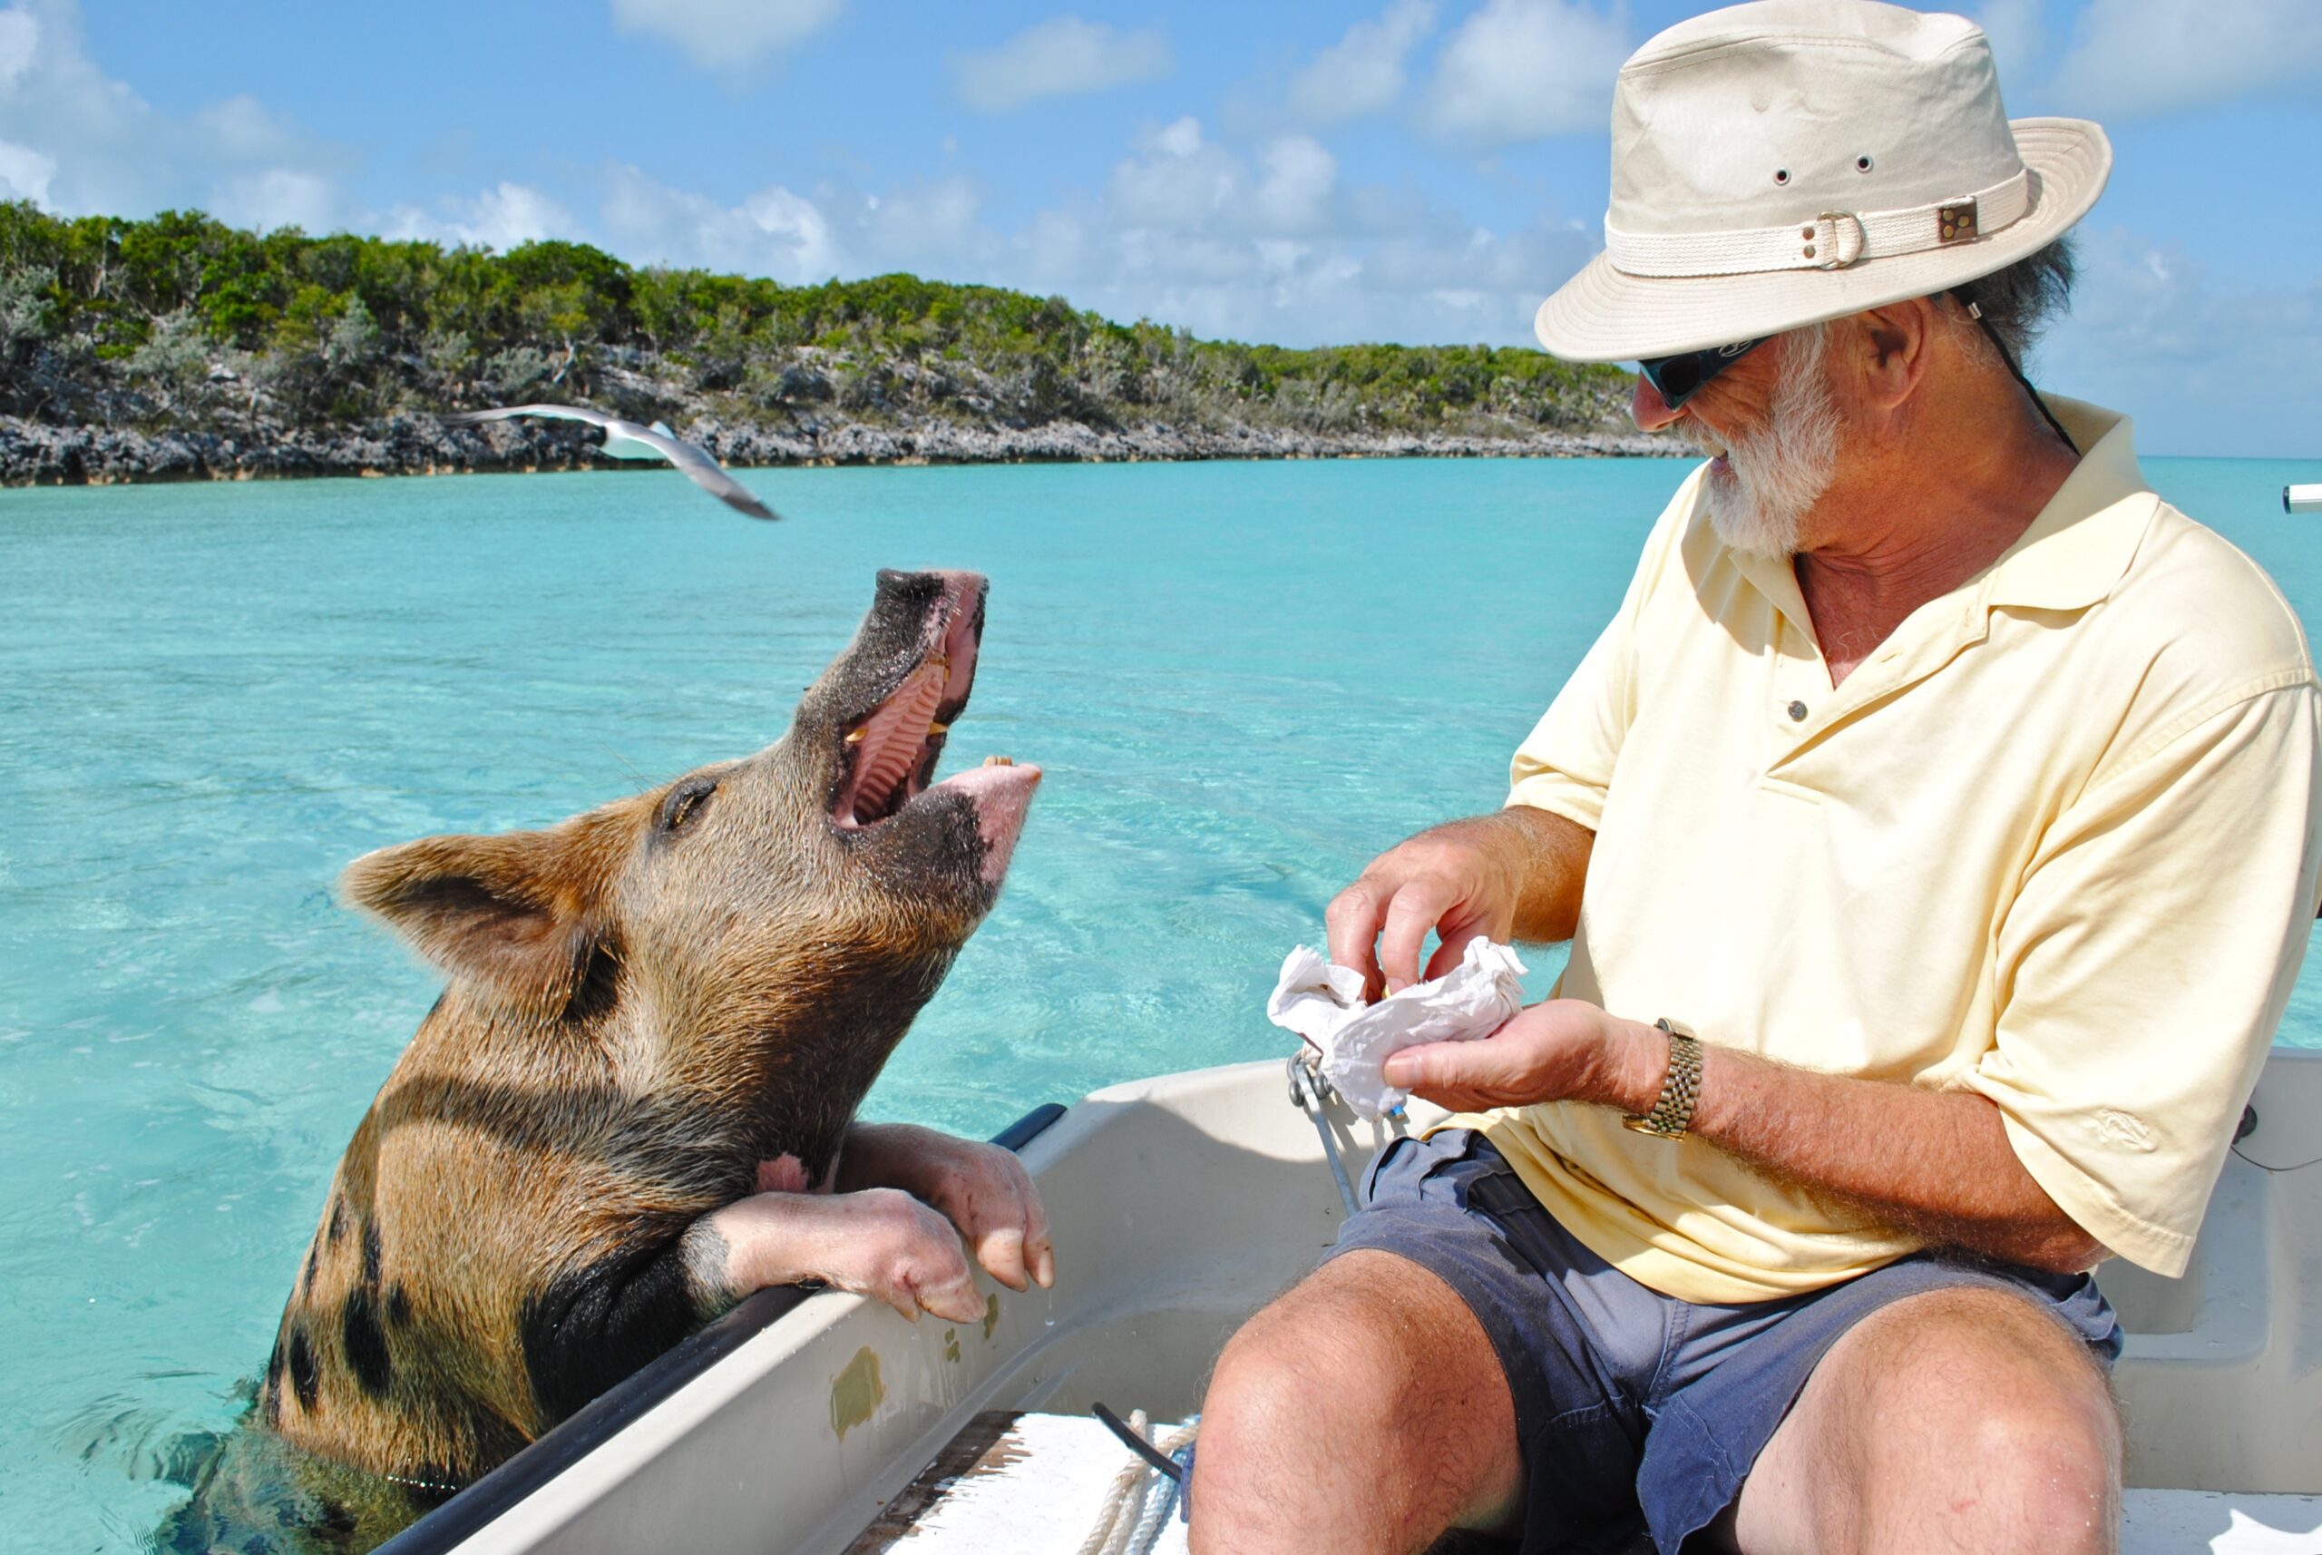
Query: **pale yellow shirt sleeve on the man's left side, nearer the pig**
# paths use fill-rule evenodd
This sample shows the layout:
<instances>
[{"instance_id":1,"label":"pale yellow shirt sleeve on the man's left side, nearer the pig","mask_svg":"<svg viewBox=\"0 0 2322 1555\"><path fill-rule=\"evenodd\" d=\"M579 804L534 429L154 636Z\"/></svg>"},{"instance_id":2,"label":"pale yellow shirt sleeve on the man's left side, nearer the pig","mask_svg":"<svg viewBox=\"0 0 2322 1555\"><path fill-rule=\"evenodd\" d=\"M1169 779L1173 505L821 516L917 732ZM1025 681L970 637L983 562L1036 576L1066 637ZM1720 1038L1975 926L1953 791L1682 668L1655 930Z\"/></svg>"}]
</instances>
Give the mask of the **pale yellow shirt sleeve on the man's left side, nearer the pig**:
<instances>
[{"instance_id":1,"label":"pale yellow shirt sleeve on the man's left side, nearer the pig","mask_svg":"<svg viewBox=\"0 0 2322 1555\"><path fill-rule=\"evenodd\" d=\"M1507 771L1507 805L1551 810L1588 831L1605 819L1605 789L1611 787L1621 740L1637 717L1637 617L1686 529L1697 485L1700 476L1679 487L1644 543L1621 608L1516 747Z\"/></svg>"}]
</instances>

